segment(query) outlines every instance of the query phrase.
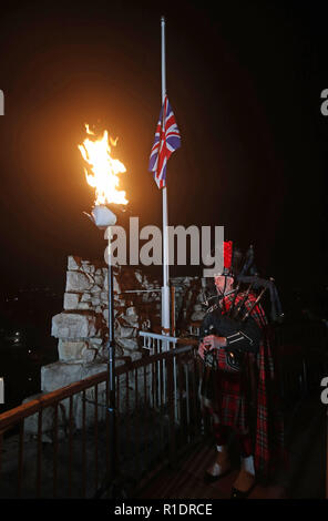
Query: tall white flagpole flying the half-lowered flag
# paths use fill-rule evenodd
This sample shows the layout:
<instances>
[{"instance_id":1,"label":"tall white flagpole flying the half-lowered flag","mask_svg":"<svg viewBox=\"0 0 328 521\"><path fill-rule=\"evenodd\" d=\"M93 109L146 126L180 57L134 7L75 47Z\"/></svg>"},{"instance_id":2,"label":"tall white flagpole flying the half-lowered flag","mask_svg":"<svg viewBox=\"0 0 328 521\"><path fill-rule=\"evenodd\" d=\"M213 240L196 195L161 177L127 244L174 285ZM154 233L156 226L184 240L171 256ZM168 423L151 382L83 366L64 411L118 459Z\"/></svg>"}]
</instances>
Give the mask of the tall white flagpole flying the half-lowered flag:
<instances>
[{"instance_id":1,"label":"tall white flagpole flying the half-lowered flag","mask_svg":"<svg viewBox=\"0 0 328 521\"><path fill-rule=\"evenodd\" d=\"M165 17L161 17L162 34L162 106L166 95L165 71ZM168 270L168 210L166 183L162 188L163 197L163 287L162 287L162 333L170 335L170 270Z\"/></svg>"}]
</instances>

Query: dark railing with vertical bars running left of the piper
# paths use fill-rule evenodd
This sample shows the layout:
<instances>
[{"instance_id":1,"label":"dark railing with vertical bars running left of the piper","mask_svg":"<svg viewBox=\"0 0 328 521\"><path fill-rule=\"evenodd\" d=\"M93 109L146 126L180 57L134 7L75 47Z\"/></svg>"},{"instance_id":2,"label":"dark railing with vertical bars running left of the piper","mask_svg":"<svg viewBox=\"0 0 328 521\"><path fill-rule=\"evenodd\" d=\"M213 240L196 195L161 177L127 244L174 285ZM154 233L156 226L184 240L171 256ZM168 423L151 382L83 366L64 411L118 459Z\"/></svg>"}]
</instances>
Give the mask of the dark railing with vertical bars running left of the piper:
<instances>
[{"instance_id":1,"label":"dark railing with vertical bars running left of the piper","mask_svg":"<svg viewBox=\"0 0 328 521\"><path fill-rule=\"evenodd\" d=\"M115 369L130 493L202 435L195 346L175 345ZM107 398L104 371L0 415L0 498L95 497L112 464Z\"/></svg>"}]
</instances>

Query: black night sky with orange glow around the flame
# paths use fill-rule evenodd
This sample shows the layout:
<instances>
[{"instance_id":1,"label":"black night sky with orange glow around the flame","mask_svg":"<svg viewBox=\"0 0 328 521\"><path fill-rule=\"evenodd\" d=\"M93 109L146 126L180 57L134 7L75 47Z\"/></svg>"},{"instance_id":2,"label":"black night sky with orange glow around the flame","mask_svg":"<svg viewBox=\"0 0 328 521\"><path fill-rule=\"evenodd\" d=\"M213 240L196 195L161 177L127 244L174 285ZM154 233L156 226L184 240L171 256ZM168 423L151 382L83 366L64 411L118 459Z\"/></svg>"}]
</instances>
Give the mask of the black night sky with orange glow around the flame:
<instances>
[{"instance_id":1,"label":"black night sky with orange glow around the flame","mask_svg":"<svg viewBox=\"0 0 328 521\"><path fill-rule=\"evenodd\" d=\"M2 290L61 290L69 254L102 258L103 235L82 214L93 203L76 147L85 122L119 136L131 215L161 225L161 193L147 172L161 108L161 14L167 93L183 140L168 163L170 224L224 225L226 238L255 245L260 272L285 293L308 284L306 273L321 280L322 6L8 4L0 21Z\"/></svg>"}]
</instances>

